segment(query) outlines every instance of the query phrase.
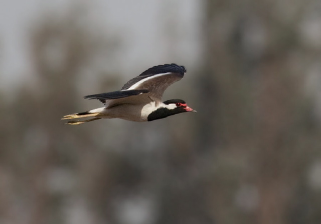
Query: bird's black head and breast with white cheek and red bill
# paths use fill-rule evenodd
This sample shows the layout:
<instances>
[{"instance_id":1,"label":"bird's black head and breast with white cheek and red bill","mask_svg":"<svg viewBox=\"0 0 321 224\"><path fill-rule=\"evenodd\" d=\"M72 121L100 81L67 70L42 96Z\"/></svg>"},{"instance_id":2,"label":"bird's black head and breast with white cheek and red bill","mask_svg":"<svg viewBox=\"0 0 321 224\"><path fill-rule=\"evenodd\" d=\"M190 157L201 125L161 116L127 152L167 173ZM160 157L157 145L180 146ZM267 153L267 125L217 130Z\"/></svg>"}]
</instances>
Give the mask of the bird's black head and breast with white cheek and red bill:
<instances>
[{"instance_id":1,"label":"bird's black head and breast with white cheek and red bill","mask_svg":"<svg viewBox=\"0 0 321 224\"><path fill-rule=\"evenodd\" d=\"M183 99L169 99L163 103L164 105L162 107L159 107L148 115L148 121L165 118L177 113L196 112L196 110L189 107Z\"/></svg>"}]
</instances>

